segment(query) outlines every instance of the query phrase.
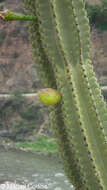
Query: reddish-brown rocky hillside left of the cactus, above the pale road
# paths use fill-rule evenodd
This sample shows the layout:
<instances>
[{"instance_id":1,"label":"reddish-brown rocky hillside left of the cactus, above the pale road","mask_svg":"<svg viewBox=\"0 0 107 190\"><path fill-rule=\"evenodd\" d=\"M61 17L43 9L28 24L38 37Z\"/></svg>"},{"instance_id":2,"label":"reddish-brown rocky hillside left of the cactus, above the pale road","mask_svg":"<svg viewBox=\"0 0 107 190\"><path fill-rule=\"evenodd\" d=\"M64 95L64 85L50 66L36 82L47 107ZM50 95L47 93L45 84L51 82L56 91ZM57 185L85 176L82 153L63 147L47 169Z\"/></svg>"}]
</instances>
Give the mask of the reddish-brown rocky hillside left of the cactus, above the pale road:
<instances>
[{"instance_id":1,"label":"reddish-brown rocky hillside left of the cactus, above the pale road","mask_svg":"<svg viewBox=\"0 0 107 190\"><path fill-rule=\"evenodd\" d=\"M4 9L23 12L22 0L5 0ZM40 87L26 22L0 23L0 93L35 92Z\"/></svg>"}]
</instances>

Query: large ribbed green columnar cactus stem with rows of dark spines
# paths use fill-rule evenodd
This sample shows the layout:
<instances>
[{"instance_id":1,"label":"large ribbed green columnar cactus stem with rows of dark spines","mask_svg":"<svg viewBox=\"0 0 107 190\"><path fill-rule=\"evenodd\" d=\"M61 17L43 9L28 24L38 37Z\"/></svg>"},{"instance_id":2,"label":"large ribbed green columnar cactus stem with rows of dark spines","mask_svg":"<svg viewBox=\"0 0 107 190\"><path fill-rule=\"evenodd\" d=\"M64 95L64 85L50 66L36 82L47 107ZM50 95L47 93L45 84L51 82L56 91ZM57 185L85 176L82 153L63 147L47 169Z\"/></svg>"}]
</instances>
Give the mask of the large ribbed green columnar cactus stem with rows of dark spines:
<instances>
[{"instance_id":1,"label":"large ribbed green columnar cactus stem with rows of dark spines","mask_svg":"<svg viewBox=\"0 0 107 190\"><path fill-rule=\"evenodd\" d=\"M76 190L107 190L107 108L90 60L83 0L25 0L36 69L61 93L49 107L65 173Z\"/></svg>"}]
</instances>

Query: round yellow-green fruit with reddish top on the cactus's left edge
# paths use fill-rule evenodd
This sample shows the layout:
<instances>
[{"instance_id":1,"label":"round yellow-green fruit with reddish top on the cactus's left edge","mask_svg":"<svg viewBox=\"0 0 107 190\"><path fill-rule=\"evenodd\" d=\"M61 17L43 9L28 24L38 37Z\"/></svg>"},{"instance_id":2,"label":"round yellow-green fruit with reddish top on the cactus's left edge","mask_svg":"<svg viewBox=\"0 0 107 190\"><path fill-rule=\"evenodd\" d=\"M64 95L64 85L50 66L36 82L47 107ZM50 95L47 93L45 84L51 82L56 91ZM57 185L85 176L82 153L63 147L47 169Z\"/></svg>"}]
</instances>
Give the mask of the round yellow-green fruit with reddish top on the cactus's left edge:
<instances>
[{"instance_id":1,"label":"round yellow-green fruit with reddish top on the cactus's left edge","mask_svg":"<svg viewBox=\"0 0 107 190\"><path fill-rule=\"evenodd\" d=\"M61 100L61 94L52 88L45 88L38 92L40 101L47 106L53 106Z\"/></svg>"}]
</instances>

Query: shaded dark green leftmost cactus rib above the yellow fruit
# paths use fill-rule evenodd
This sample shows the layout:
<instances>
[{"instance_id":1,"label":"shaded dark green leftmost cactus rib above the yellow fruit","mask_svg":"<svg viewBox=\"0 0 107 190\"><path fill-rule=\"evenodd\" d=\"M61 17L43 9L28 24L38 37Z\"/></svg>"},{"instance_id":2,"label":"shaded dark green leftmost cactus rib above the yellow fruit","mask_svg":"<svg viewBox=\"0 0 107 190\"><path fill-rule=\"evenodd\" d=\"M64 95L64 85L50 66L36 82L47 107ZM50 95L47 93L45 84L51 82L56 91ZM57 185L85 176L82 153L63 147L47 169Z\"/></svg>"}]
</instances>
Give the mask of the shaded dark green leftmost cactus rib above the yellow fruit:
<instances>
[{"instance_id":1,"label":"shaded dark green leftmost cactus rib above the yellow fruit","mask_svg":"<svg viewBox=\"0 0 107 190\"><path fill-rule=\"evenodd\" d=\"M37 11L35 7L36 1L24 0L24 2L29 12L37 17ZM44 52L39 26L40 23L38 17L36 22L29 23L30 39L32 42L33 56L36 64L36 69L38 71L39 78L45 87L56 88L53 68L49 62L47 55Z\"/></svg>"}]
</instances>

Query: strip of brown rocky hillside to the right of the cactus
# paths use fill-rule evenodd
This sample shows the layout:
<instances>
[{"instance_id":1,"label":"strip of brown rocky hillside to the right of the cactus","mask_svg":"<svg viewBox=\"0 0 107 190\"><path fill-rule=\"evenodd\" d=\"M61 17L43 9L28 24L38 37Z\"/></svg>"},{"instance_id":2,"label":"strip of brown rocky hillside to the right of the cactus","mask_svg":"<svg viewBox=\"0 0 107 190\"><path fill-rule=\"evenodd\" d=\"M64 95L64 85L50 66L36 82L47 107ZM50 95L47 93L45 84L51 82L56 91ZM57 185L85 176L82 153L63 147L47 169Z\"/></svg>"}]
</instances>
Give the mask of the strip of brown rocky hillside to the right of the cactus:
<instances>
[{"instance_id":1,"label":"strip of brown rocky hillside to the right of the cactus","mask_svg":"<svg viewBox=\"0 0 107 190\"><path fill-rule=\"evenodd\" d=\"M93 27L91 32L91 57L99 82L107 84L107 31Z\"/></svg>"}]
</instances>

